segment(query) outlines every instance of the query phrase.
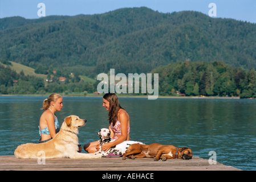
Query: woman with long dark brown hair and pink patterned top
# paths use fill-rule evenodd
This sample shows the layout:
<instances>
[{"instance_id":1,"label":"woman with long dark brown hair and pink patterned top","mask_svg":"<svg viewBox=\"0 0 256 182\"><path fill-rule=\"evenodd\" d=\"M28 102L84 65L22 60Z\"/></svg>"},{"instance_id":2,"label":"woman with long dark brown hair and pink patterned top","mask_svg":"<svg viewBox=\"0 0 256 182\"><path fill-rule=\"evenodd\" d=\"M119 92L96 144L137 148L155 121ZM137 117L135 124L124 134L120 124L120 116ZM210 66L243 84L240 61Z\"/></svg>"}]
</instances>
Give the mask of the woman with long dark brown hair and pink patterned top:
<instances>
[{"instance_id":1,"label":"woman with long dark brown hair and pink patterned top","mask_svg":"<svg viewBox=\"0 0 256 182\"><path fill-rule=\"evenodd\" d=\"M120 106L115 93L107 93L103 96L103 107L108 110L108 129L111 131L111 138L115 140L101 146L101 150L108 151L109 148L129 140L130 118L128 113ZM84 150L88 153L96 152L99 150L99 141L85 144Z\"/></svg>"}]
</instances>

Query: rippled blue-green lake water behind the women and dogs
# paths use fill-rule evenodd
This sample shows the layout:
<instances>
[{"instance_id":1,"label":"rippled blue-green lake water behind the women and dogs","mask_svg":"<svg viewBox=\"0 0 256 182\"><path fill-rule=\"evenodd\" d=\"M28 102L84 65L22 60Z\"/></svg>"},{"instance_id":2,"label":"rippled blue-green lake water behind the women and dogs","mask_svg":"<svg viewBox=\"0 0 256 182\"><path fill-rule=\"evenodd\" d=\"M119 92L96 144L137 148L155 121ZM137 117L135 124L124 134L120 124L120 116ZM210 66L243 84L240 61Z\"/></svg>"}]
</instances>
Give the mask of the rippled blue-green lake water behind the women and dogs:
<instances>
[{"instance_id":1,"label":"rippled blue-green lake water behind the women and dogs","mask_svg":"<svg viewBox=\"0 0 256 182\"><path fill-rule=\"evenodd\" d=\"M38 143L38 125L46 97L0 96L0 155L14 155L22 143ZM131 117L131 140L189 147L193 155L243 170L256 170L256 100L197 98L119 98ZM87 119L79 129L82 146L98 140L108 127L101 97L64 97L56 112L60 125L68 115Z\"/></svg>"}]
</instances>

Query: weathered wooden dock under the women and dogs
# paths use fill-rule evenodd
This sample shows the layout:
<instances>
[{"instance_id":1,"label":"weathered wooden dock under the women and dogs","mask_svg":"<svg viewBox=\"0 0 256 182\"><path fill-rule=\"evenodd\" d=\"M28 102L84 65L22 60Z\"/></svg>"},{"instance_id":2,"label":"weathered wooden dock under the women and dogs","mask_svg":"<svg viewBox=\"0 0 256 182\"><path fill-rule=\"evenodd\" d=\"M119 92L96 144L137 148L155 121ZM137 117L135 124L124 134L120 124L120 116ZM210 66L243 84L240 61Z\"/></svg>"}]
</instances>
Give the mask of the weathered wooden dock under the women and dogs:
<instances>
[{"instance_id":1,"label":"weathered wooden dock under the women and dogs","mask_svg":"<svg viewBox=\"0 0 256 182\"><path fill-rule=\"evenodd\" d=\"M193 156L190 160L168 159L154 161L152 158L126 159L46 159L38 164L37 159L17 159L15 156L0 156L0 170L17 171L241 171L221 163L210 165L207 159Z\"/></svg>"}]
</instances>

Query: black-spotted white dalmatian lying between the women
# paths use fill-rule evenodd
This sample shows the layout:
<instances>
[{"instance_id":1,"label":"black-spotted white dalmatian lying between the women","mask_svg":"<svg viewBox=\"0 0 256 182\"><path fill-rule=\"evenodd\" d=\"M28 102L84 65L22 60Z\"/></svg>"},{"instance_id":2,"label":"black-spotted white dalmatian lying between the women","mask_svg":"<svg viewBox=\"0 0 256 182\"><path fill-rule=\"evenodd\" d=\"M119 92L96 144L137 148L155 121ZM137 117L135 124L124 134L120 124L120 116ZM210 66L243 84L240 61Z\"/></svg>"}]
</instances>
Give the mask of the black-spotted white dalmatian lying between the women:
<instances>
[{"instance_id":1,"label":"black-spotted white dalmatian lying between the women","mask_svg":"<svg viewBox=\"0 0 256 182\"><path fill-rule=\"evenodd\" d=\"M101 146L103 146L104 143L113 142L113 139L110 137L110 130L108 129L100 129L100 131L97 133L97 135L100 137L100 150L95 152L95 154L102 154L102 156L107 156L109 154L114 155L123 155L125 151L128 149L128 147L133 143L139 143L144 144L142 142L136 142L136 141L124 141L120 144L117 144L116 146L111 147L108 151L101 151Z\"/></svg>"}]
</instances>

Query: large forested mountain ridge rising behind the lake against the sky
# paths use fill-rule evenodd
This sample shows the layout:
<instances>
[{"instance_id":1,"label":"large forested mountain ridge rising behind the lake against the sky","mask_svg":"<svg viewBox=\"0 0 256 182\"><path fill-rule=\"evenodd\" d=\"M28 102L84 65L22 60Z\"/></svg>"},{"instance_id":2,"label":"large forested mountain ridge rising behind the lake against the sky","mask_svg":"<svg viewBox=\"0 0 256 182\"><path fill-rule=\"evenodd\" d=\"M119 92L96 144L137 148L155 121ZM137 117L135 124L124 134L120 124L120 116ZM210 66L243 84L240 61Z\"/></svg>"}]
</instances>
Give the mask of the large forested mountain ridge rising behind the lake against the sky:
<instances>
[{"instance_id":1,"label":"large forested mountain ridge rising behind the lake against the sky","mask_svg":"<svg viewBox=\"0 0 256 182\"><path fill-rule=\"evenodd\" d=\"M0 59L87 76L110 68L116 73L146 73L180 61L223 61L256 69L252 23L195 11L164 14L146 7L39 20L15 26L5 19L13 28L0 31Z\"/></svg>"}]
</instances>

